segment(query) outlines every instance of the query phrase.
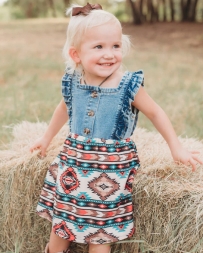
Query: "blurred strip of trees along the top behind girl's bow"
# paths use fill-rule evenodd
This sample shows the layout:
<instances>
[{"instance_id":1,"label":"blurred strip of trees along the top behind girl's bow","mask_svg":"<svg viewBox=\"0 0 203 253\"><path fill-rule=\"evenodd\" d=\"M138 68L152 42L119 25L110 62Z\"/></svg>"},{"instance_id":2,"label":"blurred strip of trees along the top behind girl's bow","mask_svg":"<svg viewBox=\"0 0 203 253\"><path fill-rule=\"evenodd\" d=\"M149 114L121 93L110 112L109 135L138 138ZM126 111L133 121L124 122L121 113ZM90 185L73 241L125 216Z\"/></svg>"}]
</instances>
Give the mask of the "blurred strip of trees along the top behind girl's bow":
<instances>
[{"instance_id":1,"label":"blurred strip of trees along the top behind girl's bow","mask_svg":"<svg viewBox=\"0 0 203 253\"><path fill-rule=\"evenodd\" d=\"M2 20L63 17L71 0L0 0ZM86 1L77 1L84 5ZM94 3L94 1L92 2ZM202 0L100 0L104 9L121 21L143 22L189 21L202 22Z\"/></svg>"}]
</instances>

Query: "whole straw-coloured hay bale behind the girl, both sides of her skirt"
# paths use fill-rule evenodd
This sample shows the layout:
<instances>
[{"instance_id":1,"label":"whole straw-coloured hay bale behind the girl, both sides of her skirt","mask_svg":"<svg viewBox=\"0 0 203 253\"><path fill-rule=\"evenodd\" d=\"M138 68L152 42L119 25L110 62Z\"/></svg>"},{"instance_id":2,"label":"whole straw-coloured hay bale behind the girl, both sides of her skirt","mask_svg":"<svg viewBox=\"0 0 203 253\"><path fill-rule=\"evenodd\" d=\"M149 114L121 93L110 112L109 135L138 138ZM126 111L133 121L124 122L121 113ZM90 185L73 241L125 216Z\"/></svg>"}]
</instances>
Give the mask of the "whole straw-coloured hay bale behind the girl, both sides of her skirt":
<instances>
[{"instance_id":1,"label":"whole straw-coloured hay bale behind the girl, both sides of her skirt","mask_svg":"<svg viewBox=\"0 0 203 253\"><path fill-rule=\"evenodd\" d=\"M67 135L64 127L52 141L47 157L40 160L29 147L42 135L45 123L23 122L13 128L13 140L0 151L0 251L42 252L49 239L50 223L35 214L47 167L60 151ZM203 172L176 165L159 134L137 128L141 168L135 177L133 199L137 233L133 239L113 246L113 252L203 252ZM183 145L198 149L203 143L181 139ZM72 244L73 252L87 247Z\"/></svg>"}]
</instances>

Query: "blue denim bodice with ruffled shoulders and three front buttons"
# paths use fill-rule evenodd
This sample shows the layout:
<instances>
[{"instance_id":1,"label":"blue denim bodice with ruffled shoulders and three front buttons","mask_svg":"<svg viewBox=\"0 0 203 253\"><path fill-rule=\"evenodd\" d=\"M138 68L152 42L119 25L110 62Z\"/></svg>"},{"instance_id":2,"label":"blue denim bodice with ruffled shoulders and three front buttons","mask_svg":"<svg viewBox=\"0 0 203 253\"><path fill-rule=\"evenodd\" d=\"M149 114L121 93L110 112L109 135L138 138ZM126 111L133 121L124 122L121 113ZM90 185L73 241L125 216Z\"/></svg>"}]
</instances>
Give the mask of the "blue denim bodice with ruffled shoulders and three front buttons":
<instances>
[{"instance_id":1,"label":"blue denim bodice with ruffled shoulders and three front buttons","mask_svg":"<svg viewBox=\"0 0 203 253\"><path fill-rule=\"evenodd\" d=\"M87 138L129 138L139 113L131 103L141 85L144 85L141 70L126 71L117 88L80 84L79 74L66 73L62 78L62 95L70 131Z\"/></svg>"}]
</instances>

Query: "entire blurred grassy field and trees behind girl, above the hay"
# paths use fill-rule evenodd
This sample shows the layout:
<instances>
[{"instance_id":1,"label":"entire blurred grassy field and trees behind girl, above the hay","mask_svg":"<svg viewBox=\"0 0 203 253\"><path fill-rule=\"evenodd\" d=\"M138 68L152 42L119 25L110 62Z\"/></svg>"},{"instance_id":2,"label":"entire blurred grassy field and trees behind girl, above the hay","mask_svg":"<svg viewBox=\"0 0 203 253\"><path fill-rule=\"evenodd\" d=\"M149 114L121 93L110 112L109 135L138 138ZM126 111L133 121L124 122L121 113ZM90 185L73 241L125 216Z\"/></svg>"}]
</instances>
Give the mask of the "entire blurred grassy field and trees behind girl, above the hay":
<instances>
[{"instance_id":1,"label":"entire blurred grassy field and trees behind girl, above the hay","mask_svg":"<svg viewBox=\"0 0 203 253\"><path fill-rule=\"evenodd\" d=\"M0 145L12 125L46 121L61 99L65 10L86 1L0 0ZM97 3L91 1L90 3ZM178 135L203 138L203 0L101 0L133 43L124 69L145 73L145 89ZM154 130L143 115L139 127Z\"/></svg>"}]
</instances>

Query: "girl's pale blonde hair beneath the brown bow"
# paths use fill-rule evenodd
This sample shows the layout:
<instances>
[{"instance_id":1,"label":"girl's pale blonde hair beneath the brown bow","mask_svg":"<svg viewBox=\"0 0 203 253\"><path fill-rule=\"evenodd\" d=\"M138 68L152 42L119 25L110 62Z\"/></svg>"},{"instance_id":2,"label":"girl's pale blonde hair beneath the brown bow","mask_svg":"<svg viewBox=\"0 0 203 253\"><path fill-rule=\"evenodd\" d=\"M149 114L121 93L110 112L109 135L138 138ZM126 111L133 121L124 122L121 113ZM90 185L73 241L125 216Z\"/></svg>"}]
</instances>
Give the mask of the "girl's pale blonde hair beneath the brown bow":
<instances>
[{"instance_id":1,"label":"girl's pale blonde hair beneath the brown bow","mask_svg":"<svg viewBox=\"0 0 203 253\"><path fill-rule=\"evenodd\" d=\"M90 13L85 15L72 16L73 5L70 7L66 14L71 14L70 21L67 28L66 42L63 48L63 57L66 60L66 72L72 74L75 70L79 73L82 72L82 67L77 65L69 56L70 47L78 48L80 46L83 35L86 30L91 27L113 22L121 27L120 21L111 13L104 10L91 10ZM122 29L122 27L121 27ZM122 55L123 57L128 54L131 47L128 35L122 34Z\"/></svg>"}]
</instances>

